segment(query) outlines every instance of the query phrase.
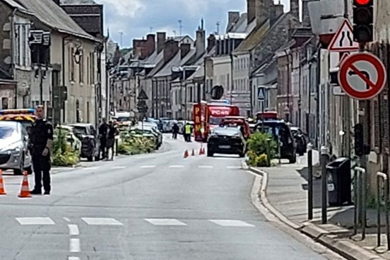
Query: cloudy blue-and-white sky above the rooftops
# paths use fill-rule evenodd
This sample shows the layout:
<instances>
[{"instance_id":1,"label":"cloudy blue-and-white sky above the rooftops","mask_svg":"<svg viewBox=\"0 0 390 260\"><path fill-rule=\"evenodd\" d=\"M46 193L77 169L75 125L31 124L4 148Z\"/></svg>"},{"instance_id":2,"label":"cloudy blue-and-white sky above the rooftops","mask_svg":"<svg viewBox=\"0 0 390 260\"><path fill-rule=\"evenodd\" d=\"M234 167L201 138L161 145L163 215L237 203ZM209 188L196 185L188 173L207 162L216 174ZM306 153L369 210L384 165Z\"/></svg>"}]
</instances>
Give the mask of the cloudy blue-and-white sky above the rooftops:
<instances>
[{"instance_id":1,"label":"cloudy blue-and-white sky above the rooftops","mask_svg":"<svg viewBox=\"0 0 390 260\"><path fill-rule=\"evenodd\" d=\"M278 1L278 0L276 0ZM105 28L110 37L120 42L123 32L123 47L131 46L134 38L142 38L150 31L167 31L179 35L179 20L182 20L182 34L194 36L203 17L206 34L226 28L228 11L246 12L246 0L95 0L104 4ZM288 0L281 0L287 4ZM289 9L286 6L285 9Z\"/></svg>"}]
</instances>

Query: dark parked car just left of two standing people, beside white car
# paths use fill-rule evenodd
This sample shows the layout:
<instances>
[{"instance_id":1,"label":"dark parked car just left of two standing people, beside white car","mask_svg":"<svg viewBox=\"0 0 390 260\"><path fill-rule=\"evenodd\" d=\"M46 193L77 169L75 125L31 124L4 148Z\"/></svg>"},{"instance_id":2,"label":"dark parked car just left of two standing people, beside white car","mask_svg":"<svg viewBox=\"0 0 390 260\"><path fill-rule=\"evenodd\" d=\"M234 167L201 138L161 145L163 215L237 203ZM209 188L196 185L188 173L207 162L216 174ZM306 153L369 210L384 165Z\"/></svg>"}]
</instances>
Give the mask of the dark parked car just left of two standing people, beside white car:
<instances>
[{"instance_id":1,"label":"dark parked car just left of two standing people, beside white car","mask_svg":"<svg viewBox=\"0 0 390 260\"><path fill-rule=\"evenodd\" d=\"M88 161L100 160L100 140L96 129L89 123L69 124L72 127L73 134L81 140L81 158L87 158Z\"/></svg>"}]
</instances>

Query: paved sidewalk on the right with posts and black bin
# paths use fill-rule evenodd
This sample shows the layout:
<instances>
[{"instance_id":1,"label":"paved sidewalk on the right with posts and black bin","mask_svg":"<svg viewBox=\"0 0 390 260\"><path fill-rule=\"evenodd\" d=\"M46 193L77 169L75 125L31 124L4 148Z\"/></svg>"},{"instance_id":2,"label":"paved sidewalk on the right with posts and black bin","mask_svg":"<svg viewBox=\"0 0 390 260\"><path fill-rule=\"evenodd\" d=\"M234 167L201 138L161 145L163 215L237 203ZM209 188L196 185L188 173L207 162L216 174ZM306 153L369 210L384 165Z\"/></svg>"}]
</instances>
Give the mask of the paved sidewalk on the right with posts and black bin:
<instances>
[{"instance_id":1,"label":"paved sidewalk on the right with posts and black bin","mask_svg":"<svg viewBox=\"0 0 390 260\"><path fill-rule=\"evenodd\" d=\"M313 164L318 161L318 152L313 151ZM381 247L376 248L376 210L367 211L366 239L361 241L361 232L353 234L353 206L328 207L328 224L321 224L321 180L313 180L313 220L307 220L307 158L297 164L283 164L272 168L252 168L267 181L266 200L292 228L314 238L318 242L341 253L348 259L390 259L385 251L386 239L382 233ZM314 171L314 170L313 170ZM267 207L267 205L265 205ZM270 210L272 211L272 210ZM381 217L382 225L384 216ZM384 229L382 230L384 232Z\"/></svg>"}]
</instances>

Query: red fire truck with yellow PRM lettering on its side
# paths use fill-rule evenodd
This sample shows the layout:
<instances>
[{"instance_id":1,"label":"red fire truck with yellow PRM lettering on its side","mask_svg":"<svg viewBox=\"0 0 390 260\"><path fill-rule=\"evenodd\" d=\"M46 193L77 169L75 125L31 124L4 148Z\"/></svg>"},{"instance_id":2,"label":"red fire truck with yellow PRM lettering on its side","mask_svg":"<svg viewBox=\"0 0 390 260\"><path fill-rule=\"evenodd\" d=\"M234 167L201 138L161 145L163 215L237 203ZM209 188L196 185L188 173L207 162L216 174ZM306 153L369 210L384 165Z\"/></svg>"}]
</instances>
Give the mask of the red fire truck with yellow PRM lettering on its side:
<instances>
[{"instance_id":1,"label":"red fire truck with yellow PRM lettering on its side","mask_svg":"<svg viewBox=\"0 0 390 260\"><path fill-rule=\"evenodd\" d=\"M201 103L193 105L194 136L198 142L206 142L210 129L218 127L226 116L239 116L237 106L220 102Z\"/></svg>"}]
</instances>

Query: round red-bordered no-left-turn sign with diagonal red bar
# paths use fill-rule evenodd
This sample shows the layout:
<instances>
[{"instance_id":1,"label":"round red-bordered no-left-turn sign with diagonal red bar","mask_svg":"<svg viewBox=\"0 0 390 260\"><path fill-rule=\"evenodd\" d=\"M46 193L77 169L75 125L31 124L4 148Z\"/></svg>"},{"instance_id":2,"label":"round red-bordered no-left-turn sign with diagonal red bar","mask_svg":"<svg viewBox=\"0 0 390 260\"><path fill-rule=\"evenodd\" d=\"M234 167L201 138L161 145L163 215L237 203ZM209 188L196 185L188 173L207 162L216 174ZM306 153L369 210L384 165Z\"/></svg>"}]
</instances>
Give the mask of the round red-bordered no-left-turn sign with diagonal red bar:
<instances>
[{"instance_id":1,"label":"round red-bordered no-left-turn sign with diagonal red bar","mask_svg":"<svg viewBox=\"0 0 390 260\"><path fill-rule=\"evenodd\" d=\"M386 69L378 57L360 52L346 57L340 64L339 83L351 98L369 100L383 89Z\"/></svg>"}]
</instances>

